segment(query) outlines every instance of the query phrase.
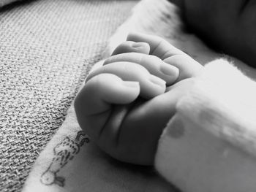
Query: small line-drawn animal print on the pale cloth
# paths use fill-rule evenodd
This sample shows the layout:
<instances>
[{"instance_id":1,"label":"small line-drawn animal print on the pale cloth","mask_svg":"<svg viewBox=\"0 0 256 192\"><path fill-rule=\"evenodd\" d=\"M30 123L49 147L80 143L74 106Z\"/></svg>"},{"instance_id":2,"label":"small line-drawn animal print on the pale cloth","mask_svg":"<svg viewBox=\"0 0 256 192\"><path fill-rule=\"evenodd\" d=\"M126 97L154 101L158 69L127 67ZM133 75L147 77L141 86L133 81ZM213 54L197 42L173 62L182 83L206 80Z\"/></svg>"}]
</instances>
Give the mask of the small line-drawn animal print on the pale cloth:
<instances>
[{"instance_id":1,"label":"small line-drawn animal print on the pale cloth","mask_svg":"<svg viewBox=\"0 0 256 192\"><path fill-rule=\"evenodd\" d=\"M50 166L41 175L41 183L45 185L56 184L63 187L65 178L58 176L57 173L79 153L80 147L82 147L85 142L89 143L89 137L84 134L83 131L79 131L75 139L65 137L65 139L59 142L59 144L53 148L54 156Z\"/></svg>"}]
</instances>

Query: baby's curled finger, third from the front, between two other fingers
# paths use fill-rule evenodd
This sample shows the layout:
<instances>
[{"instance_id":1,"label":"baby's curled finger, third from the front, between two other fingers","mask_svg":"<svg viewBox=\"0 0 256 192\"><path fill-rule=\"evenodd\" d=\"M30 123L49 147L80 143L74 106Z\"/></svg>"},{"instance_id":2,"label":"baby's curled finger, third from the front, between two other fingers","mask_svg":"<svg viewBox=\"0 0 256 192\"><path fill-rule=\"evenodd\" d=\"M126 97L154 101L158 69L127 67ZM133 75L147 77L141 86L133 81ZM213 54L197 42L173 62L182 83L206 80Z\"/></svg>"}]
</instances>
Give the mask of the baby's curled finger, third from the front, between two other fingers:
<instances>
[{"instance_id":1,"label":"baby's curled finger, third from the front, between two other fingers","mask_svg":"<svg viewBox=\"0 0 256 192\"><path fill-rule=\"evenodd\" d=\"M154 55L146 55L143 53L122 53L113 55L108 58L103 65L112 64L115 62L127 61L135 64L140 64L151 74L165 80L167 85L172 85L178 79L178 68L165 63L160 58Z\"/></svg>"}]
</instances>

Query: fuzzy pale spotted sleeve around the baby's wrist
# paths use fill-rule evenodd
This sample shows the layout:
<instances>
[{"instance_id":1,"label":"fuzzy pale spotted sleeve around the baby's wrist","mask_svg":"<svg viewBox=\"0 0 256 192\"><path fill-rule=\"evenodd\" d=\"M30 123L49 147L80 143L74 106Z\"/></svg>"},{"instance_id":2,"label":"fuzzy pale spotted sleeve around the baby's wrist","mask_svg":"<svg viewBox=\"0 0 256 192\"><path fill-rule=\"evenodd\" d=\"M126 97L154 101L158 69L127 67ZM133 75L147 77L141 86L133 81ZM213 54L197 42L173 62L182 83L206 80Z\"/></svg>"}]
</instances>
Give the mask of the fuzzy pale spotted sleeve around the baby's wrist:
<instances>
[{"instance_id":1,"label":"fuzzy pale spotted sleeve around the baby's wrist","mask_svg":"<svg viewBox=\"0 0 256 192\"><path fill-rule=\"evenodd\" d=\"M256 82L205 66L159 139L155 166L183 192L256 191Z\"/></svg>"}]
</instances>

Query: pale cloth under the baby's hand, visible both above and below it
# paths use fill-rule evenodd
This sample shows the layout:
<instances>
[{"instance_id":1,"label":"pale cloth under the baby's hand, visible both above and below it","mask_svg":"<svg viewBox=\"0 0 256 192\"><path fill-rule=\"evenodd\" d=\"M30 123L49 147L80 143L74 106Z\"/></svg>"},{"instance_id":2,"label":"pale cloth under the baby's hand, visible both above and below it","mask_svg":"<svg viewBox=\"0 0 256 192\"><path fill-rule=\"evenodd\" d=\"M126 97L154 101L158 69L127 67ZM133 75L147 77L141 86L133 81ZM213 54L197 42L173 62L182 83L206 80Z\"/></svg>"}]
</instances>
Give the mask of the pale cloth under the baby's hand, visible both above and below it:
<instances>
[{"instance_id":1,"label":"pale cloth under the baby's hand, visible both above and below it","mask_svg":"<svg viewBox=\"0 0 256 192\"><path fill-rule=\"evenodd\" d=\"M158 23L158 26L154 26ZM110 38L105 56L124 42L129 31L159 35L192 55L201 64L223 57L206 47L194 34L183 30L178 9L166 0L143 0L133 9L131 17ZM250 77L255 70L232 60ZM102 62L96 64L100 66ZM30 191L178 191L150 167L123 164L102 153L81 131L70 107L64 124L39 155L24 192Z\"/></svg>"}]
</instances>

